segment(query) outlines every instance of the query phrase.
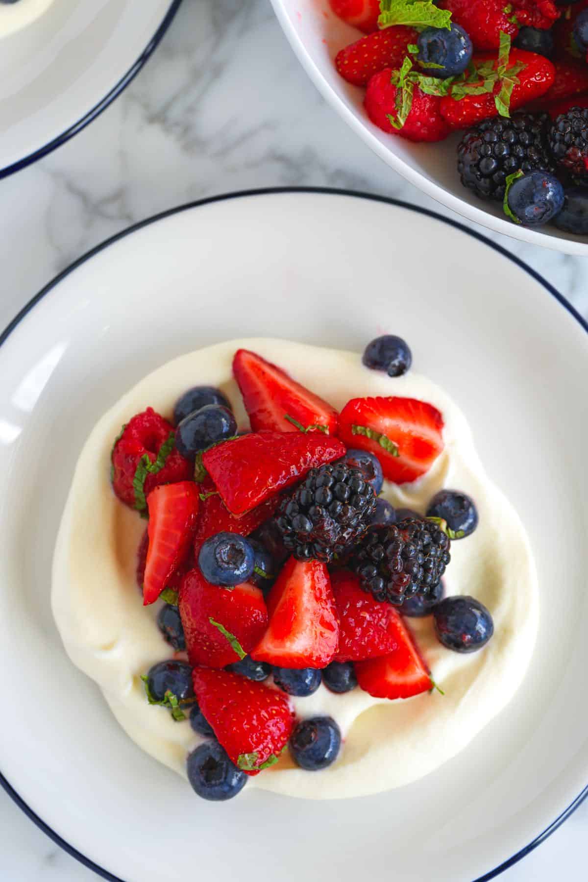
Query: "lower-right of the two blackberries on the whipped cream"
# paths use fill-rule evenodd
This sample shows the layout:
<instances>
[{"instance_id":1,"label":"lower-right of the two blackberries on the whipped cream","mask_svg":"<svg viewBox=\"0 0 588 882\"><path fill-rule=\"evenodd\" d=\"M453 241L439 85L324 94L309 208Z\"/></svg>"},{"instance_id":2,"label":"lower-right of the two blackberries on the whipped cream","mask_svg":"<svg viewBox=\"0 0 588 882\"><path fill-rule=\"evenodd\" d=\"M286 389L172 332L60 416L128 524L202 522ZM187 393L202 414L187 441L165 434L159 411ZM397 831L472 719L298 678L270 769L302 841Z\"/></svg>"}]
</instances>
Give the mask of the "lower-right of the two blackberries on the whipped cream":
<instances>
[{"instance_id":1,"label":"lower-right of the two blackberries on the whipped cream","mask_svg":"<svg viewBox=\"0 0 588 882\"><path fill-rule=\"evenodd\" d=\"M450 540L441 527L406 518L391 527L371 527L353 566L364 591L399 606L416 594L433 596L449 562Z\"/></svg>"}]
</instances>

